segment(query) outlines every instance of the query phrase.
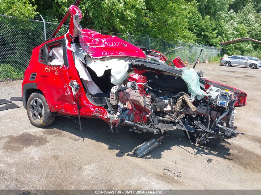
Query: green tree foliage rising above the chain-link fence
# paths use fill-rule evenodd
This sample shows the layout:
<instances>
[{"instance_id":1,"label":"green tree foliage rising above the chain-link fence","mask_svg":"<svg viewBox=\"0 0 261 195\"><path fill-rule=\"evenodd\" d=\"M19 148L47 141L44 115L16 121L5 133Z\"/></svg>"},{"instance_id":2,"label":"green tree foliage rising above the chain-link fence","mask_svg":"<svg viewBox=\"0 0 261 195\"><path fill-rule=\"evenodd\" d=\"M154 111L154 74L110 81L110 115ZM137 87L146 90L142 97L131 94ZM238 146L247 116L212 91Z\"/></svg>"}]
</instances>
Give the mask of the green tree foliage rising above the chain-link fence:
<instances>
[{"instance_id":1,"label":"green tree foliage rising above the chain-link fence","mask_svg":"<svg viewBox=\"0 0 261 195\"><path fill-rule=\"evenodd\" d=\"M0 13L33 18L39 12L61 19L73 2L1 1ZM79 8L83 14L82 26L96 30L128 32L167 41L179 39L215 47L220 42L241 37L261 40L260 0L82 0ZM244 54L253 49L260 50L261 45L238 43L228 46L227 52Z\"/></svg>"}]
</instances>

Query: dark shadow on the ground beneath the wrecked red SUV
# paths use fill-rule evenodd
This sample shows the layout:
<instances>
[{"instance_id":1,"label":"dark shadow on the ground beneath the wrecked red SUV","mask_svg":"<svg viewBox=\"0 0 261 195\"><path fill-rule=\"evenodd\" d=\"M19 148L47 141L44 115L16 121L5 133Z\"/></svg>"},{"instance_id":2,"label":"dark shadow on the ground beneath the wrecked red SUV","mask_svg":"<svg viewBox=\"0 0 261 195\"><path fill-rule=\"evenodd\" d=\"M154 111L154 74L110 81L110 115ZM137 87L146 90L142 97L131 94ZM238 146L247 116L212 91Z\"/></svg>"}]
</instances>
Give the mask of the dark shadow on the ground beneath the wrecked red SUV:
<instances>
[{"instance_id":1,"label":"dark shadow on the ground beneath the wrecked red SUV","mask_svg":"<svg viewBox=\"0 0 261 195\"><path fill-rule=\"evenodd\" d=\"M46 129L44 130L44 133L48 135L52 135L50 131L53 131L53 128L56 128L58 130L69 132L75 136L78 136L79 138L82 138L82 141L85 141L85 138L88 138L97 142L102 142L108 145L109 150L114 150L116 156L118 157L122 157L124 155L136 157L132 152L133 148L144 143L152 137L156 138L159 136L151 133L145 134L130 132L128 127L120 128L118 133L116 133L115 129L114 132L112 132L110 130L109 124L99 119L82 119L81 124L82 132L80 132L79 124L76 123L73 119L58 116L52 125L43 129ZM58 133L58 136L59 134L60 133ZM225 141L225 145L212 143L196 145L190 144L189 140L181 130L170 131L170 134L172 137L164 138L157 148L148 152L142 158L160 159L162 152L171 151L171 147L178 146L183 148L184 152L189 152L191 155L204 154L210 155L210 157L218 156L220 158L233 160L228 158L230 155L230 149L225 145L230 145L230 143L227 141Z\"/></svg>"}]
</instances>

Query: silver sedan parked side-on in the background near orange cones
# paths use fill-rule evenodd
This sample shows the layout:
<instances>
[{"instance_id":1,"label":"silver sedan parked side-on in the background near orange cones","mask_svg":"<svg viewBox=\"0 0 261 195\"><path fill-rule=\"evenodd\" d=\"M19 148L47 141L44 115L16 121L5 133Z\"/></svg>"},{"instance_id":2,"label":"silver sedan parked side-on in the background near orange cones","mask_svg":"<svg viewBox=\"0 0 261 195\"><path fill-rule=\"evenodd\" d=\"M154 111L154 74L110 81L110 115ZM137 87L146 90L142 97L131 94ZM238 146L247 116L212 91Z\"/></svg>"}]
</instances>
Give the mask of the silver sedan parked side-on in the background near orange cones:
<instances>
[{"instance_id":1,"label":"silver sedan parked side-on in the background near orange cones","mask_svg":"<svg viewBox=\"0 0 261 195\"><path fill-rule=\"evenodd\" d=\"M232 55L228 57L224 57L220 59L220 64L225 66L244 66L250 68L259 68L261 67L261 62L249 59L248 57L244 57L242 55Z\"/></svg>"}]
</instances>

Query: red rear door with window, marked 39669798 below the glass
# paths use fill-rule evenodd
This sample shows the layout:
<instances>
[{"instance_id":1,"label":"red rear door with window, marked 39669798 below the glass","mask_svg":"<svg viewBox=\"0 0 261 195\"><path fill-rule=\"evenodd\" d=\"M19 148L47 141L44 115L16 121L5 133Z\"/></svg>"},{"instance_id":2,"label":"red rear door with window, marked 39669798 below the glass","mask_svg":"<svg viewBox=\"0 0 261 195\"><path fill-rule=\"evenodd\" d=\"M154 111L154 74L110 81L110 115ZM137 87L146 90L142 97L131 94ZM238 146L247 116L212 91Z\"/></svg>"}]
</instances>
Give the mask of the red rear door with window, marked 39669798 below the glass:
<instances>
[{"instance_id":1,"label":"red rear door with window, marked 39669798 below the glass","mask_svg":"<svg viewBox=\"0 0 261 195\"><path fill-rule=\"evenodd\" d=\"M52 112L69 113L76 108L74 97L69 87L67 49L65 39L45 44L40 50L39 61L42 63L41 84Z\"/></svg>"}]
</instances>

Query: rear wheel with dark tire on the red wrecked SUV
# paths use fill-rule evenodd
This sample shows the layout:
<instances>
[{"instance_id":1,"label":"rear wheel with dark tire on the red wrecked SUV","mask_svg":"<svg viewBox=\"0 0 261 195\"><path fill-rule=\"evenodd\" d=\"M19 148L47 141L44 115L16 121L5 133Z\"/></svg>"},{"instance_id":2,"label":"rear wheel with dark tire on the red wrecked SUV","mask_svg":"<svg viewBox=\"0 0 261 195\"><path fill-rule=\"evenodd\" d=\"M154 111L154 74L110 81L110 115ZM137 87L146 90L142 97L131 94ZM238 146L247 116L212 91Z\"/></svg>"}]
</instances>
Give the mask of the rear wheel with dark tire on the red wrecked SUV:
<instances>
[{"instance_id":1,"label":"rear wheel with dark tire on the red wrecked SUV","mask_svg":"<svg viewBox=\"0 0 261 195\"><path fill-rule=\"evenodd\" d=\"M52 124L55 119L55 113L50 111L41 92L35 92L30 95L26 110L31 124L36 127L46 127Z\"/></svg>"}]
</instances>

